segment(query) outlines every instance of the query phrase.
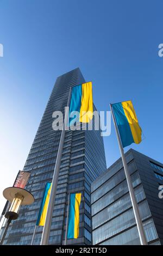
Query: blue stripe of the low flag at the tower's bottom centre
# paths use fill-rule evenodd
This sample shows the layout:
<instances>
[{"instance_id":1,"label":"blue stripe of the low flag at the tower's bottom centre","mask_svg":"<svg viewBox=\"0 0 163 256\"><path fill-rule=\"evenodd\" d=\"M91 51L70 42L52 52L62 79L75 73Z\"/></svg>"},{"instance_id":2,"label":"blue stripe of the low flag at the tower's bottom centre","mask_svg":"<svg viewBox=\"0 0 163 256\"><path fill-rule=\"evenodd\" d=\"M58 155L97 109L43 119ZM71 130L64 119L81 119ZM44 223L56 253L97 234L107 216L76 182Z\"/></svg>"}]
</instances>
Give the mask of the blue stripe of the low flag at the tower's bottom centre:
<instances>
[{"instance_id":1,"label":"blue stripe of the low flag at the tower's bottom centre","mask_svg":"<svg viewBox=\"0 0 163 256\"><path fill-rule=\"evenodd\" d=\"M75 216L75 202L76 202L76 194L70 194L70 208L68 215L68 232L67 239L74 238L74 216Z\"/></svg>"}]
</instances>

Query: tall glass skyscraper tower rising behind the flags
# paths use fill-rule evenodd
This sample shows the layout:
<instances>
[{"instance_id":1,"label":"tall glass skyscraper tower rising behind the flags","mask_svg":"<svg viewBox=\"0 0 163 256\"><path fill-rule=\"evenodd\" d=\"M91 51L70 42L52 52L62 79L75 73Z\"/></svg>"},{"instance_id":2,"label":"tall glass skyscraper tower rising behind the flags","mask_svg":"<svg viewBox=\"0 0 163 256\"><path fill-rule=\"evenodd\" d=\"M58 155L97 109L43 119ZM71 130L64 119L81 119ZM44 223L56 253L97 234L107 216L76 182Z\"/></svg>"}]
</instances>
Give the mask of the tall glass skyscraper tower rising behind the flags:
<instances>
[{"instance_id":1,"label":"tall glass skyscraper tower rising behind the flags","mask_svg":"<svg viewBox=\"0 0 163 256\"><path fill-rule=\"evenodd\" d=\"M35 202L22 206L19 217L8 230L4 244L30 245L46 182L52 181L61 131L54 131L54 111L64 113L70 87L84 83L79 68L59 76L49 97L32 148L23 168L31 172L26 189ZM67 244L92 244L91 235L91 182L106 169L101 131L66 131L64 149L54 203L49 245L62 245L65 240L68 193L82 192L80 204L79 238ZM41 241L43 227L37 227L35 245Z\"/></svg>"}]
</instances>

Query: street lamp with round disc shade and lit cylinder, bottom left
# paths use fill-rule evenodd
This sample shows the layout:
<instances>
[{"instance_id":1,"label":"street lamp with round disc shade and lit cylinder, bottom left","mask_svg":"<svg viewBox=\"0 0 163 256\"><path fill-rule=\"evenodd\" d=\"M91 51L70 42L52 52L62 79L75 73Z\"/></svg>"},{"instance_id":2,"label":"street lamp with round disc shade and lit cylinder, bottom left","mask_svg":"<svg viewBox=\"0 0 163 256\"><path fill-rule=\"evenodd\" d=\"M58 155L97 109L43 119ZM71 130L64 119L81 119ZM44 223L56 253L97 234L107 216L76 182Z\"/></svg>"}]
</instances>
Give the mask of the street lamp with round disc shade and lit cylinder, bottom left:
<instances>
[{"instance_id":1,"label":"street lamp with round disc shade and lit cylinder, bottom left","mask_svg":"<svg viewBox=\"0 0 163 256\"><path fill-rule=\"evenodd\" d=\"M5 188L5 190L3 191L3 196L5 199L11 202L11 206L9 211L7 211L4 215L4 217L7 218L8 221L7 225L5 226L0 245L3 244L5 235L7 234L7 230L9 228L11 221L17 219L20 206L29 205L34 202L33 195L29 191L24 190L24 188L20 187Z\"/></svg>"}]
</instances>

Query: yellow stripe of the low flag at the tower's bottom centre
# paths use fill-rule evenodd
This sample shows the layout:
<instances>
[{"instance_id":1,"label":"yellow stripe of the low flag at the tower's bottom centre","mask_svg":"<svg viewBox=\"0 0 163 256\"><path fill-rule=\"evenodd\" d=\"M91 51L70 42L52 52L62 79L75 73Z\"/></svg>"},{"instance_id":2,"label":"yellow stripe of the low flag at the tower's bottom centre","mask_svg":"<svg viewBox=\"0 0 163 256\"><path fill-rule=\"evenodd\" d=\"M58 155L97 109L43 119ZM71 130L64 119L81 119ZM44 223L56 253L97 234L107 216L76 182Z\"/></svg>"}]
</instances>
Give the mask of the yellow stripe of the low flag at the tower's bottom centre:
<instances>
[{"instance_id":1,"label":"yellow stripe of the low flag at the tower's bottom centre","mask_svg":"<svg viewBox=\"0 0 163 256\"><path fill-rule=\"evenodd\" d=\"M74 212L74 238L79 236L79 206L81 201L81 193L76 194L75 212Z\"/></svg>"}]
</instances>

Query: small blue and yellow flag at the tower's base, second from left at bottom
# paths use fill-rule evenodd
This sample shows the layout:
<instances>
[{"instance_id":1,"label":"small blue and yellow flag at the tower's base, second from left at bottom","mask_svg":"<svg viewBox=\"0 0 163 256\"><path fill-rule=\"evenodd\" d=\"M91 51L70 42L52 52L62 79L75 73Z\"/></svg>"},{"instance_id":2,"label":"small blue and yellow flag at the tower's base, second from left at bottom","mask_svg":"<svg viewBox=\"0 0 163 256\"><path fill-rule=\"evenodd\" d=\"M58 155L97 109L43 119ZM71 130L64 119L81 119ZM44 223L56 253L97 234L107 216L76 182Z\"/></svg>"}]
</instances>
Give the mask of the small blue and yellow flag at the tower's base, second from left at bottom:
<instances>
[{"instance_id":1,"label":"small blue and yellow flag at the tower's base, second from left at bottom","mask_svg":"<svg viewBox=\"0 0 163 256\"><path fill-rule=\"evenodd\" d=\"M81 193L70 194L67 239L78 238L79 236L79 207L81 195Z\"/></svg>"}]
</instances>

